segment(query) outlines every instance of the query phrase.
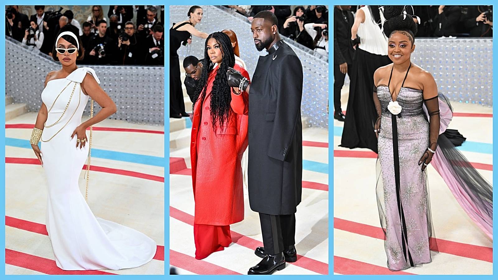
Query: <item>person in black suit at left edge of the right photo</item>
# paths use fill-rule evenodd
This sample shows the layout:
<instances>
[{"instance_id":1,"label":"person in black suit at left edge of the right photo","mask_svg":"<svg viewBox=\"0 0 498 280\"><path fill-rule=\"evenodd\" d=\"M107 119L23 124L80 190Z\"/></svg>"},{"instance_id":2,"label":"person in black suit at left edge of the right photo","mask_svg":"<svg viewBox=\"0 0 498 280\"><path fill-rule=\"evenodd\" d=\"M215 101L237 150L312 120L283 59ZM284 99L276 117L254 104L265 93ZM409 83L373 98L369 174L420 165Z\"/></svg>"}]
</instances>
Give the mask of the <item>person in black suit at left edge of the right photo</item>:
<instances>
[{"instance_id":1,"label":"person in black suit at left edge of the right photo","mask_svg":"<svg viewBox=\"0 0 498 280\"><path fill-rule=\"evenodd\" d=\"M346 117L341 109L341 90L344 78L353 73L351 27L355 21L351 6L334 6L334 119L344 122Z\"/></svg>"}]
</instances>

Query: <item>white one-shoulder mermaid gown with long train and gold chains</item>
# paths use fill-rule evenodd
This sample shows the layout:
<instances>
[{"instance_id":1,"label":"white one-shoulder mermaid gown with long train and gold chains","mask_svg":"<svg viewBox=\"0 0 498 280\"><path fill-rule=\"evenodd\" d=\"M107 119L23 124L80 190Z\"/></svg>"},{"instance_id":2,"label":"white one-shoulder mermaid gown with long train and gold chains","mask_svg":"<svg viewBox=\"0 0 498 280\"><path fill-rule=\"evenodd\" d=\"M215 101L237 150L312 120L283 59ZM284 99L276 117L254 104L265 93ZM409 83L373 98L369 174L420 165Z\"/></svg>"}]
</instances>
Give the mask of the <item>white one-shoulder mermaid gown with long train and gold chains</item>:
<instances>
[{"instance_id":1,"label":"white one-shoulder mermaid gown with long train and gold chains","mask_svg":"<svg viewBox=\"0 0 498 280\"><path fill-rule=\"evenodd\" d=\"M50 109L67 86L48 113L46 124L51 125L63 113L76 84L66 113L56 125L45 128L41 137L48 140L60 130L51 140L41 142L43 168L48 181L46 227L55 263L63 270L139 267L152 260L156 243L136 230L95 217L78 187L89 145L76 148L77 137L70 138L81 124L89 99L80 90L80 83L87 73L100 84L93 69L82 67L66 78L49 81L41 94L43 103ZM98 182L91 180L90 185L97 187Z\"/></svg>"}]
</instances>

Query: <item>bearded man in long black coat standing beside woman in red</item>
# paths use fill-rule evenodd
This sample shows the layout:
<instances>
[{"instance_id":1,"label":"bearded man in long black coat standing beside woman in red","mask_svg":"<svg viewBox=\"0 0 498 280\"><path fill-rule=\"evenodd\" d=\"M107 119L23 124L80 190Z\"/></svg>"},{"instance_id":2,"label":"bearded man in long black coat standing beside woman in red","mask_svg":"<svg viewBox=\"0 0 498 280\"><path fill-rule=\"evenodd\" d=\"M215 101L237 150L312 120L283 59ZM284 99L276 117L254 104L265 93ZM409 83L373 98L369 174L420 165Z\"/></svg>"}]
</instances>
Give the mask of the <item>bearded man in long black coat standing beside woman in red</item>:
<instances>
[{"instance_id":1,"label":"bearded man in long black coat standing beside woman in red","mask_svg":"<svg viewBox=\"0 0 498 280\"><path fill-rule=\"evenodd\" d=\"M258 12L251 31L256 49L266 49L268 54L259 57L250 85L233 69L227 77L231 87L245 90L232 93L231 105L236 113L249 115L249 205L259 212L264 245L254 252L263 260L248 274L264 275L297 260L294 235L302 189L303 68L280 38L272 12Z\"/></svg>"}]
</instances>

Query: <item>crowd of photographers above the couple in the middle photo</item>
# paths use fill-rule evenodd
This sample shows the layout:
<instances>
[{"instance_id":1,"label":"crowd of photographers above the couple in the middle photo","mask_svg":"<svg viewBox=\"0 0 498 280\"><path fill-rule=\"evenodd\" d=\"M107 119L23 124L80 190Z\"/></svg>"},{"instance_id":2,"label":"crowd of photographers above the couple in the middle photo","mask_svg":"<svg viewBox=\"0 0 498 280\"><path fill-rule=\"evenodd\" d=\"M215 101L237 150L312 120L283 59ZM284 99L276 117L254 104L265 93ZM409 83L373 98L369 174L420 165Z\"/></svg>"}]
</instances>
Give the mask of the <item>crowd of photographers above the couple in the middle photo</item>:
<instances>
[{"instance_id":1,"label":"crowd of photographers above the couple in the middle photo","mask_svg":"<svg viewBox=\"0 0 498 280\"><path fill-rule=\"evenodd\" d=\"M280 34L306 46L328 59L329 10L324 5L227 5L246 16L249 22L262 10L269 10L278 19Z\"/></svg>"}]
</instances>

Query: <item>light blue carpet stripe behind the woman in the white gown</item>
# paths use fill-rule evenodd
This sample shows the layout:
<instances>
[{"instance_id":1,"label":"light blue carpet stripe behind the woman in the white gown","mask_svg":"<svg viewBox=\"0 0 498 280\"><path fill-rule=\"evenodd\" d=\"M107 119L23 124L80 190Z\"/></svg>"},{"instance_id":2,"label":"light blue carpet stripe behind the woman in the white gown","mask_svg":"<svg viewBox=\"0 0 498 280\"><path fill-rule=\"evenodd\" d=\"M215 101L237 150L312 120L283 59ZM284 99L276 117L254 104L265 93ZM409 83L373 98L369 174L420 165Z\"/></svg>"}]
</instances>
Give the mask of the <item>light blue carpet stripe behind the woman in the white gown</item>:
<instances>
[{"instance_id":1,"label":"light blue carpet stripe behind the woman in the white gown","mask_svg":"<svg viewBox=\"0 0 498 280\"><path fill-rule=\"evenodd\" d=\"M23 139L5 138L5 145L31 149L31 144L29 143L29 140L23 140ZM166 163L164 157L112 151L112 150L103 150L96 148L92 148L92 157L120 160L120 161L140 163L140 164L160 166L160 167L163 167Z\"/></svg>"}]
</instances>

